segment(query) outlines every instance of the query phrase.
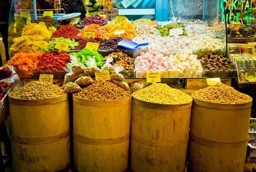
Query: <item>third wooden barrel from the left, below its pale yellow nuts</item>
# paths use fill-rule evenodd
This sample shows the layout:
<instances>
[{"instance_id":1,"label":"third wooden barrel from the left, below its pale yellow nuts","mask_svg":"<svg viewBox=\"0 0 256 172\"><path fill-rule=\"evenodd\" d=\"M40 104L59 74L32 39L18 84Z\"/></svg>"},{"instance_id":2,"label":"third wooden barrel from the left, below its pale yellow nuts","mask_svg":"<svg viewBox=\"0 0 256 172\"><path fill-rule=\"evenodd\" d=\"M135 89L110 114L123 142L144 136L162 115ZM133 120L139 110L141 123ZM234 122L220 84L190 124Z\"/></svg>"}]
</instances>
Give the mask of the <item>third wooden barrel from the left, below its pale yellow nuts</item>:
<instances>
[{"instance_id":1,"label":"third wooden barrel from the left, below its pale yellow nuts","mask_svg":"<svg viewBox=\"0 0 256 172\"><path fill-rule=\"evenodd\" d=\"M192 100L167 105L133 96L131 172L184 172Z\"/></svg>"}]
</instances>

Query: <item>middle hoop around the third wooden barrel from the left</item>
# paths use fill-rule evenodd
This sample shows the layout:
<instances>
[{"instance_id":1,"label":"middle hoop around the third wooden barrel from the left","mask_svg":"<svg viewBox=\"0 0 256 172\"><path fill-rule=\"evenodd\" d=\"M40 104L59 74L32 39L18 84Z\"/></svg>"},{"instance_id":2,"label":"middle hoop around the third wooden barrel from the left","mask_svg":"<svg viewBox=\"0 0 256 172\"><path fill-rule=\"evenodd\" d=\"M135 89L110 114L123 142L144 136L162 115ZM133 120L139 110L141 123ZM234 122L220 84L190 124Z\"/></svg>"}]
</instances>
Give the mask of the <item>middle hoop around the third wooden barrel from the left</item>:
<instances>
[{"instance_id":1,"label":"middle hoop around the third wooden barrel from the left","mask_svg":"<svg viewBox=\"0 0 256 172\"><path fill-rule=\"evenodd\" d=\"M155 146L155 147L176 147L176 146L182 146L186 144L189 140L189 137L184 138L182 140L175 140L175 141L157 141L157 140L148 140L145 138L141 138L137 135L134 135L131 132L131 139L136 140L137 142L140 142L142 144L148 145L148 146Z\"/></svg>"}]
</instances>

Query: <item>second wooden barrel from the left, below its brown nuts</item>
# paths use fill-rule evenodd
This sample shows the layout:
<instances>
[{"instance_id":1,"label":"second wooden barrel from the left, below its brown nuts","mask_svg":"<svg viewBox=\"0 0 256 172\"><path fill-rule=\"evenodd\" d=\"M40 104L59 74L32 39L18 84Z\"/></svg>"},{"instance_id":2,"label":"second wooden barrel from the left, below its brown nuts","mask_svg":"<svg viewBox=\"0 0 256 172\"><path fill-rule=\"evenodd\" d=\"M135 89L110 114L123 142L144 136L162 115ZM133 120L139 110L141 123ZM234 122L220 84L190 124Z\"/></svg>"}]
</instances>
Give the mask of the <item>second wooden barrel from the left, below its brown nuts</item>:
<instances>
[{"instance_id":1,"label":"second wooden barrel from the left, below its brown nuts","mask_svg":"<svg viewBox=\"0 0 256 172\"><path fill-rule=\"evenodd\" d=\"M73 95L74 168L79 172L128 170L131 97L86 100Z\"/></svg>"}]
</instances>

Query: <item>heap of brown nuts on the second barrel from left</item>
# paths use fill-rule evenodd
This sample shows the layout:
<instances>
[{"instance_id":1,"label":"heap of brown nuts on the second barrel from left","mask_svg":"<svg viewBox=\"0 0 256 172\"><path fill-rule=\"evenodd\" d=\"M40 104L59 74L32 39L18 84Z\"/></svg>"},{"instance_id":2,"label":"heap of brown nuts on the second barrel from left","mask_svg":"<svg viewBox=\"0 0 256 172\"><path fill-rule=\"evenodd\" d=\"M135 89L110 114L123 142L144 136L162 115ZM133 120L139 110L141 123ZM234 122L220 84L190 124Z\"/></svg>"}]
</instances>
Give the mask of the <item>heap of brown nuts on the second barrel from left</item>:
<instances>
[{"instance_id":1,"label":"heap of brown nuts on the second barrel from left","mask_svg":"<svg viewBox=\"0 0 256 172\"><path fill-rule=\"evenodd\" d=\"M94 83L81 92L74 94L77 97L90 100L122 100L131 97L131 93L116 86L110 81L95 80Z\"/></svg>"}]
</instances>

